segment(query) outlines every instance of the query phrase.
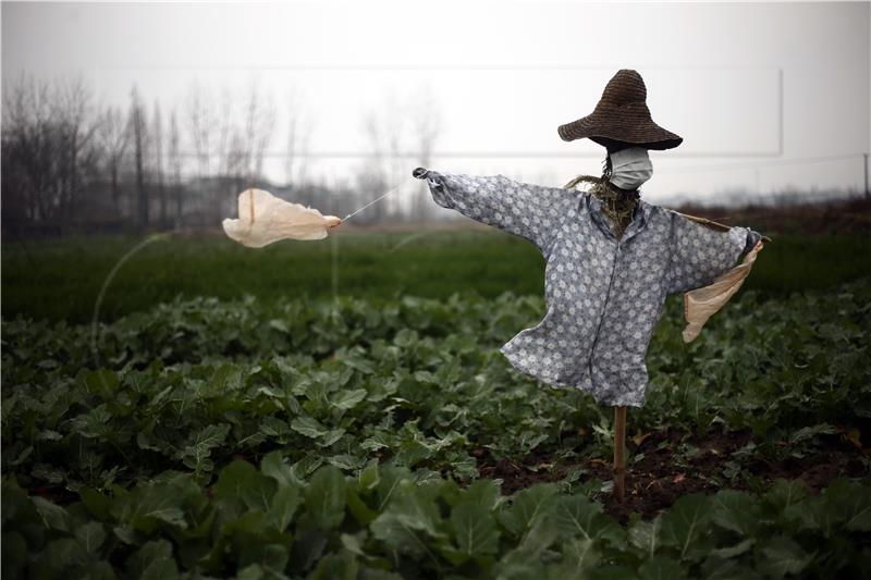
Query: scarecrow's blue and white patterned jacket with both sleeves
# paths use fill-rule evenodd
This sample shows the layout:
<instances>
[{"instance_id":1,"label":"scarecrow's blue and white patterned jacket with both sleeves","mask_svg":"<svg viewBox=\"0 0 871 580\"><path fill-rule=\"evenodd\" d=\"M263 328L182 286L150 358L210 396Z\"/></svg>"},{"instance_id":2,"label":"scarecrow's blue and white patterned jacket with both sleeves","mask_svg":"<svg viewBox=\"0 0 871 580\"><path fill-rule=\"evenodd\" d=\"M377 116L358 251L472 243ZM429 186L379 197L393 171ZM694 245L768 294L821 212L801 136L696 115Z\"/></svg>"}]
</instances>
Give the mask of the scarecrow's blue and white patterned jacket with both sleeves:
<instances>
[{"instance_id":1,"label":"scarecrow's blue and white patterned jacket with both sleeves","mask_svg":"<svg viewBox=\"0 0 871 580\"><path fill-rule=\"evenodd\" d=\"M547 260L544 318L500 351L539 381L604 405L643 406L645 355L666 296L710 284L758 239L748 227L720 232L639 200L618 240L584 190L434 171L427 182L440 206L532 242Z\"/></svg>"}]
</instances>

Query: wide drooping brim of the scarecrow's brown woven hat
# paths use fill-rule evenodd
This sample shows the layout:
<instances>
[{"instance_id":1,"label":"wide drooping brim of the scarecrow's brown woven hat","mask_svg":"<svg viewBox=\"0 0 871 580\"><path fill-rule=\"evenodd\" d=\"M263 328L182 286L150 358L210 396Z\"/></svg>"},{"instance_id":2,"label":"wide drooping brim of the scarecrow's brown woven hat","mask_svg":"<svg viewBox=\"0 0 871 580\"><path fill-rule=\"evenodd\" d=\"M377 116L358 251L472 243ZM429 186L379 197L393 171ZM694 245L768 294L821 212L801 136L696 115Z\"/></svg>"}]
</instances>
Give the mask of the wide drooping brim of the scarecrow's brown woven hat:
<instances>
[{"instance_id":1,"label":"wide drooping brim of the scarecrow's brown woven hat","mask_svg":"<svg viewBox=\"0 0 871 580\"><path fill-rule=\"evenodd\" d=\"M659 126L645 111L619 109L613 112L597 109L577 121L560 125L560 137L565 141L604 137L645 146L647 149L672 149L683 143L683 137Z\"/></svg>"}]
</instances>

